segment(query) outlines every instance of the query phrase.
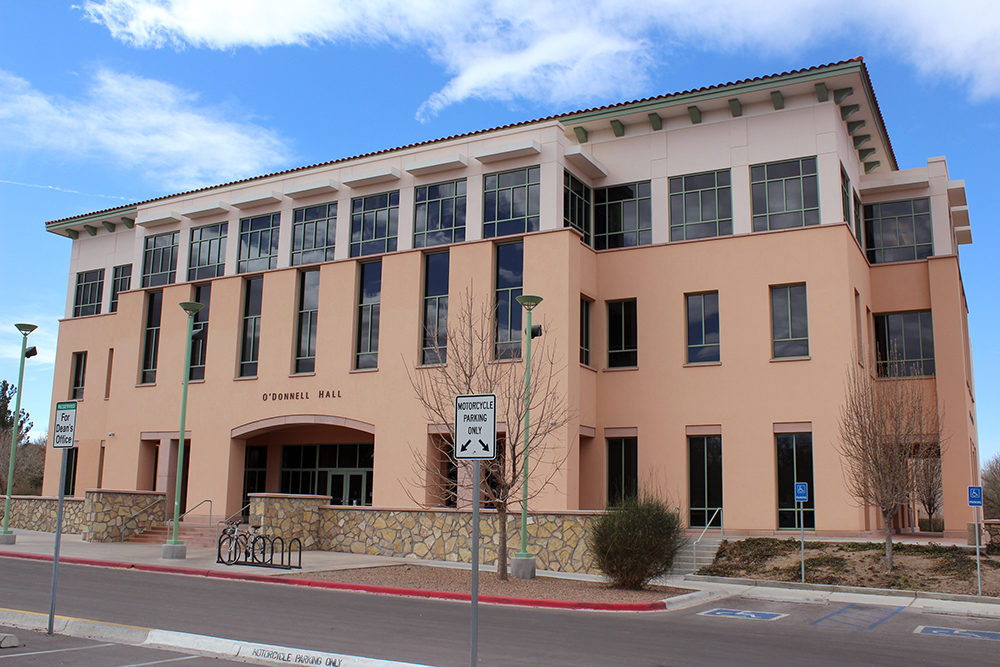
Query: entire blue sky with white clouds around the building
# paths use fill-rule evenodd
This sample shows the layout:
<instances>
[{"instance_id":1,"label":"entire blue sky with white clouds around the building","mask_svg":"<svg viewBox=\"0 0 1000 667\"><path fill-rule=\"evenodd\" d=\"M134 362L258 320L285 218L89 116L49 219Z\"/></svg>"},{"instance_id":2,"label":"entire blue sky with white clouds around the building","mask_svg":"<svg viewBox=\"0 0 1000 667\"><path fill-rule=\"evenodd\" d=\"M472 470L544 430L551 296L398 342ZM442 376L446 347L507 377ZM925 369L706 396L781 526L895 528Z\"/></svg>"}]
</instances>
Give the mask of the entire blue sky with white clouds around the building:
<instances>
[{"instance_id":1,"label":"entire blue sky with white clouds around the building","mask_svg":"<svg viewBox=\"0 0 1000 667\"><path fill-rule=\"evenodd\" d=\"M1000 453L1000 3L0 0L0 379L48 422L71 242L44 223L862 56L901 169L964 179L981 458ZM947 409L947 407L946 407Z\"/></svg>"}]
</instances>

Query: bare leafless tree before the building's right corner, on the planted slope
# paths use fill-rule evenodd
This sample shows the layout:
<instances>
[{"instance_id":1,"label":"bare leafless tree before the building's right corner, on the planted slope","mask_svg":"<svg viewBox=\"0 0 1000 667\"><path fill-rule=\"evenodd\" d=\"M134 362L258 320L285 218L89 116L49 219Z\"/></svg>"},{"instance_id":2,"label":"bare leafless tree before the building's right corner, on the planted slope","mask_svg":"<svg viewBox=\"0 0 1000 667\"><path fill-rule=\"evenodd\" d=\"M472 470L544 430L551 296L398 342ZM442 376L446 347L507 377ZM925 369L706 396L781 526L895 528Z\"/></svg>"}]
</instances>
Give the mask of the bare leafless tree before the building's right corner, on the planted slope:
<instances>
[{"instance_id":1,"label":"bare leafless tree before the building's right corner, on the planted slope","mask_svg":"<svg viewBox=\"0 0 1000 667\"><path fill-rule=\"evenodd\" d=\"M838 448L848 492L882 514L891 571L892 516L917 490L914 460L940 457L941 432L937 405L925 400L920 380L901 374L903 364L886 367L888 376L877 378L873 362L851 363Z\"/></svg>"}]
</instances>

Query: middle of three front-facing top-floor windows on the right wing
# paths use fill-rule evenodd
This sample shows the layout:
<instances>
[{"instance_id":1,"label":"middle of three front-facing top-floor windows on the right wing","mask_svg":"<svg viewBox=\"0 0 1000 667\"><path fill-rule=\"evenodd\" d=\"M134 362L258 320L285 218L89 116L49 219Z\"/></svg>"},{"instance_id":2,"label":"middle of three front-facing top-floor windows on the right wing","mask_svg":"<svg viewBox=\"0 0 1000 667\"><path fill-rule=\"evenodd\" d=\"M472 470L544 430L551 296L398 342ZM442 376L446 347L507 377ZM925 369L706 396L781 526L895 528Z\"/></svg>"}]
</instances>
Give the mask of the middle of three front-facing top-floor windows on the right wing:
<instances>
[{"instance_id":1,"label":"middle of three front-facing top-floor windows on the right wing","mask_svg":"<svg viewBox=\"0 0 1000 667\"><path fill-rule=\"evenodd\" d=\"M670 240L733 233L733 196L728 169L670 179Z\"/></svg>"}]
</instances>

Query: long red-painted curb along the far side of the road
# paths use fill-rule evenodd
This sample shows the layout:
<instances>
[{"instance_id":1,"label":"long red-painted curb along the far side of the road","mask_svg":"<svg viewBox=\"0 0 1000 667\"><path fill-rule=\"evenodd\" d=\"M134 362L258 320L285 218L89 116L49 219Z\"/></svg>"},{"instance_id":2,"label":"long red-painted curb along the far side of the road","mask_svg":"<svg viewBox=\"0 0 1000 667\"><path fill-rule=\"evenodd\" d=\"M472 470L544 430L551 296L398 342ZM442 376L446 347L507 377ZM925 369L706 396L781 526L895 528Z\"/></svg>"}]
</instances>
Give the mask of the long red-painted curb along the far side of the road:
<instances>
[{"instance_id":1,"label":"long red-painted curb along the far side of the road","mask_svg":"<svg viewBox=\"0 0 1000 667\"><path fill-rule=\"evenodd\" d=\"M0 551L0 558L22 558L26 560L38 560L52 562L53 557L47 554L25 554L19 552ZM76 556L60 556L60 563L70 565L90 565L93 567L110 567L122 570L139 570L142 572L156 572L160 574L183 574L196 577L209 577L213 579L229 579L236 581L251 581L262 584L285 584L290 586L307 586L311 588L328 588L342 591L355 591L361 593L376 593L382 595L396 595L400 597L427 598L433 600L453 600L458 602L471 602L470 593L453 593L449 591L427 591L413 588L398 588L395 586L374 586L369 584L347 584L337 581L317 581L315 579L294 579L290 577L275 577L260 574L242 574L238 572L220 572L217 570L194 569L176 567L173 565L155 565L152 563L126 563L119 561L103 561L93 558L79 558ZM700 591L699 591L700 592ZM679 595L677 598L688 598L696 593ZM479 601L486 604L512 605L518 607L541 607L546 609L564 609L578 611L664 611L668 608L681 608L671 606L667 603L675 598L657 600L655 602L576 602L572 600L545 600L540 598L517 598L505 595L480 595ZM685 604L685 606L688 606Z\"/></svg>"}]
</instances>

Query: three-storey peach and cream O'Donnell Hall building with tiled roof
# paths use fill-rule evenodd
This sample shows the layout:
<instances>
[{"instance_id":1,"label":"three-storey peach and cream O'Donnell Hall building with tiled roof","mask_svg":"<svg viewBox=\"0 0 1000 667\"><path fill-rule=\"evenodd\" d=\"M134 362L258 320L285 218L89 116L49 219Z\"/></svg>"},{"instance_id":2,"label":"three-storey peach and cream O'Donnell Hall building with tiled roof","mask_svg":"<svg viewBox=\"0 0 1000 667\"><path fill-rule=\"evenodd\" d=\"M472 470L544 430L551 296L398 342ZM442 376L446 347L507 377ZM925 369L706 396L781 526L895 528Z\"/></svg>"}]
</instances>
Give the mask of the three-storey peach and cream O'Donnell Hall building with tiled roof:
<instances>
[{"instance_id":1,"label":"three-storey peach and cream O'Donnell Hall building with tiled roof","mask_svg":"<svg viewBox=\"0 0 1000 667\"><path fill-rule=\"evenodd\" d=\"M549 482L530 503L538 517L585 516L652 480L692 528L780 535L797 532L793 486L805 481L806 530L880 530L878 510L847 491L839 420L852 364L884 376L895 350L941 416L946 536L972 521L965 185L944 157L897 165L860 58L46 229L72 243L53 395L79 401L70 496L161 494L172 513L187 366L178 304L199 302L185 523L208 522L203 500L217 520L258 494L308 500L329 531L435 505L464 515L461 494L448 508L455 495L427 481L454 464L436 453L447 426L429 423L413 382L449 362L444 331L469 293L493 313L498 364L523 365L514 298L544 299L534 345L555 354L568 418L545 439L552 468L533 478ZM46 461L46 495L59 464ZM918 514L916 499L900 506L894 528Z\"/></svg>"}]
</instances>

